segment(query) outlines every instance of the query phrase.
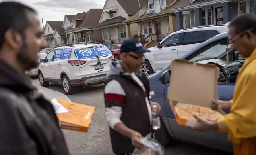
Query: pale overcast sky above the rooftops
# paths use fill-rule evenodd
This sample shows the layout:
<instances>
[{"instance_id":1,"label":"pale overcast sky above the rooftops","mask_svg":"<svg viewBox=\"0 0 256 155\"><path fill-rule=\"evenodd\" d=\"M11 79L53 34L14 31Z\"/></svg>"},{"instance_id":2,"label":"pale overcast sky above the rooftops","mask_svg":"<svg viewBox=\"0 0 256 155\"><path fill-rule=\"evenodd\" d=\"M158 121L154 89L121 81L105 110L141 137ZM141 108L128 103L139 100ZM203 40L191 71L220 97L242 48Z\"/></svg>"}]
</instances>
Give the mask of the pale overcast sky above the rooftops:
<instances>
[{"instance_id":1,"label":"pale overcast sky above the rooftops","mask_svg":"<svg viewBox=\"0 0 256 155\"><path fill-rule=\"evenodd\" d=\"M105 0L0 0L17 1L37 10L39 19L46 21L63 21L64 15L76 15L92 8L103 8ZM41 23L41 27L42 23Z\"/></svg>"}]
</instances>

